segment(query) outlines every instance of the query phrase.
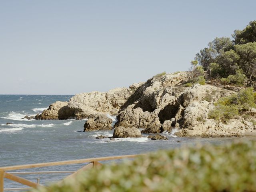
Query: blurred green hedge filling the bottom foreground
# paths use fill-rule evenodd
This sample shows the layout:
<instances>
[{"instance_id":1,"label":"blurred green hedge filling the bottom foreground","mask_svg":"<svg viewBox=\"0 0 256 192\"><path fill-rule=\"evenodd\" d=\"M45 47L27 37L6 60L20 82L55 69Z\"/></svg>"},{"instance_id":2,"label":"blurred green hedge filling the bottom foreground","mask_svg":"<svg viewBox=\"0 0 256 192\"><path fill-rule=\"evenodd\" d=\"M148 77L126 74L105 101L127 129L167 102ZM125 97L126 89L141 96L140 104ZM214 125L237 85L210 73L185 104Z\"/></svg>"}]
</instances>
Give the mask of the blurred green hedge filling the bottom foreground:
<instances>
[{"instance_id":1,"label":"blurred green hedge filling the bottom foreground","mask_svg":"<svg viewBox=\"0 0 256 192\"><path fill-rule=\"evenodd\" d=\"M40 192L244 192L256 190L256 143L193 146L92 169ZM34 190L34 192L38 190Z\"/></svg>"}]
</instances>

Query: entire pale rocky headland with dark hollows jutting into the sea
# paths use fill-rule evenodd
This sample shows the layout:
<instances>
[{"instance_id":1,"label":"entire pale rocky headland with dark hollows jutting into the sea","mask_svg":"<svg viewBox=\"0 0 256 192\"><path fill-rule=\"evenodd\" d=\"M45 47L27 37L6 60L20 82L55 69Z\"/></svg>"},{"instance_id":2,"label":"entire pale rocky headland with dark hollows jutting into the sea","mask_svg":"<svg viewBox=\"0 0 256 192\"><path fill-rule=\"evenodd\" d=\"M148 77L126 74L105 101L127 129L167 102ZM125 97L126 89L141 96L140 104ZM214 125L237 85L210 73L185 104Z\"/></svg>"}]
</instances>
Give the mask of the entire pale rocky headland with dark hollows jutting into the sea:
<instances>
[{"instance_id":1,"label":"entire pale rocky headland with dark hollows jutting into the sea","mask_svg":"<svg viewBox=\"0 0 256 192\"><path fill-rule=\"evenodd\" d=\"M37 115L36 119L63 120L88 119L84 131L110 130L117 116L114 137L140 137L141 133L161 133L177 130L180 137L230 137L242 136L256 129L243 116L228 122L208 118L214 102L234 91L212 86L194 84L185 86L187 72L159 74L144 83L129 88L116 88L108 92L77 94L68 102L57 101ZM255 120L256 109L250 116ZM134 130L135 129L135 130Z\"/></svg>"}]
</instances>

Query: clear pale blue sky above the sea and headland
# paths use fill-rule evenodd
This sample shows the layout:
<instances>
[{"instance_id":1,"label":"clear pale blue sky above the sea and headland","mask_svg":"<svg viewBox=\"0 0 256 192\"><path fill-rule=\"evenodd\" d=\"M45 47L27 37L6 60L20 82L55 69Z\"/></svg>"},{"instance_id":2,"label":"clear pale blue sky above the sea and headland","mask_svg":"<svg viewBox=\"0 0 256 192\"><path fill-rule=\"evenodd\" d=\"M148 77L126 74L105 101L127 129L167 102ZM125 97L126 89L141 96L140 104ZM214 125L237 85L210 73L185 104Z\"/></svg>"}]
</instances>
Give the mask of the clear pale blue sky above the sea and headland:
<instances>
[{"instance_id":1,"label":"clear pale blue sky above the sea and headland","mask_svg":"<svg viewBox=\"0 0 256 192\"><path fill-rule=\"evenodd\" d=\"M0 0L0 94L77 94L188 70L255 0Z\"/></svg>"}]
</instances>

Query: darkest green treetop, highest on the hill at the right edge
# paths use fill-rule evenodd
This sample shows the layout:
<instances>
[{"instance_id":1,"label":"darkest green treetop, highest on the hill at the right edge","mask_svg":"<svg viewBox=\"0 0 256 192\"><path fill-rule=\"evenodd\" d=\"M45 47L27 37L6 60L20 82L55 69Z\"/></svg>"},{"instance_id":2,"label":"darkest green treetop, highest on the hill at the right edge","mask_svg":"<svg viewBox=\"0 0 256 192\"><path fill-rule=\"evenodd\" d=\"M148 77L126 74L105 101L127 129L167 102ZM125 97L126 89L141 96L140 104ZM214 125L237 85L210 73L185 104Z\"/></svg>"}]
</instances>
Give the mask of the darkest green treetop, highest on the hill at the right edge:
<instances>
[{"instance_id":1,"label":"darkest green treetop, highest on the hill at the right edge","mask_svg":"<svg viewBox=\"0 0 256 192\"><path fill-rule=\"evenodd\" d=\"M235 30L232 34L235 44L246 44L256 41L256 20L251 21L243 30Z\"/></svg>"}]
</instances>

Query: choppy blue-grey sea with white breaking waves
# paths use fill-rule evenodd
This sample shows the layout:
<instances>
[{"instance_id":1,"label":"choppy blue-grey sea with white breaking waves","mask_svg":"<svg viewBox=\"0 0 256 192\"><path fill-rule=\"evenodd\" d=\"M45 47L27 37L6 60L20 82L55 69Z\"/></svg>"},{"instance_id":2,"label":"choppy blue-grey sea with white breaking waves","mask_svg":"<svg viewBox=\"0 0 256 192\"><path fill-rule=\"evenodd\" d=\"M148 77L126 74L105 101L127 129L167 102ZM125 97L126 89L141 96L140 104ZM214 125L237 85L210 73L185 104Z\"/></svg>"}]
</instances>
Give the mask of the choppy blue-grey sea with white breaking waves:
<instances>
[{"instance_id":1,"label":"choppy blue-grey sea with white breaking waves","mask_svg":"<svg viewBox=\"0 0 256 192\"><path fill-rule=\"evenodd\" d=\"M173 133L162 133L168 140L142 138L96 139L96 136L112 136L111 131L83 132L84 120L28 120L55 101L68 101L72 95L0 95L0 167L41 162L76 160L103 156L142 154L163 149L174 149L196 144L222 145L248 138L178 138ZM110 116L113 124L115 116ZM12 124L6 124L12 123ZM117 161L118 162L118 161ZM102 162L110 163L110 162ZM33 168L10 172L74 171L84 164ZM70 173L69 173L70 174ZM66 174L19 175L40 184L58 182ZM5 188L25 187L4 180Z\"/></svg>"}]
</instances>

